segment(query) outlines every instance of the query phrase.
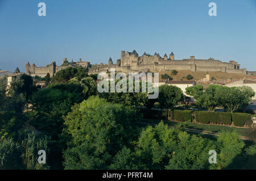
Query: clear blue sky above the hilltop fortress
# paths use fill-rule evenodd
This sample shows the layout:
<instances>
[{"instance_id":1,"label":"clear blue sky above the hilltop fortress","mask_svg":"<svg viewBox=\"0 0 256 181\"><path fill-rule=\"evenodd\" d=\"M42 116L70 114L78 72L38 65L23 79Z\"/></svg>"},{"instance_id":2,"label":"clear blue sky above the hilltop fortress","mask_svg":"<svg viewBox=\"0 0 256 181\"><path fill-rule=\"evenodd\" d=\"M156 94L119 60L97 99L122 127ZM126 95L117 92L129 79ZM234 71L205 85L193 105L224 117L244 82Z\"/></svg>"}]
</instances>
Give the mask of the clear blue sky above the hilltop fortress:
<instances>
[{"instance_id":1,"label":"clear blue sky above the hilltop fortress","mask_svg":"<svg viewBox=\"0 0 256 181\"><path fill-rule=\"evenodd\" d=\"M45 2L47 16L38 16ZM209 2L217 16L208 15ZM115 62L121 50L238 61L256 70L256 1L0 0L0 69Z\"/></svg>"}]
</instances>

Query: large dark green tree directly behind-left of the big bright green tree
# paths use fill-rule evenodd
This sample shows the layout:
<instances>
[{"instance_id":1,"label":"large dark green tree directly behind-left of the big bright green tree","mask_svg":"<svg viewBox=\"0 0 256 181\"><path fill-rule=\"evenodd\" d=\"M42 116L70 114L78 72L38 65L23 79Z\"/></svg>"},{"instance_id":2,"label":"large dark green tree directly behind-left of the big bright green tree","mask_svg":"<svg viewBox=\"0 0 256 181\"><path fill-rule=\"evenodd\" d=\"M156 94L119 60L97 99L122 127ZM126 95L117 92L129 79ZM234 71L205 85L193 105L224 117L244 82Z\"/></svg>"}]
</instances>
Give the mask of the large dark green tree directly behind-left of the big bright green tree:
<instances>
[{"instance_id":1,"label":"large dark green tree directly behind-left of the big bright green tree","mask_svg":"<svg viewBox=\"0 0 256 181\"><path fill-rule=\"evenodd\" d=\"M31 97L34 114L30 124L56 140L63 129L63 116L75 103L84 99L82 87L76 83L51 84L46 89L35 92Z\"/></svg>"}]
</instances>

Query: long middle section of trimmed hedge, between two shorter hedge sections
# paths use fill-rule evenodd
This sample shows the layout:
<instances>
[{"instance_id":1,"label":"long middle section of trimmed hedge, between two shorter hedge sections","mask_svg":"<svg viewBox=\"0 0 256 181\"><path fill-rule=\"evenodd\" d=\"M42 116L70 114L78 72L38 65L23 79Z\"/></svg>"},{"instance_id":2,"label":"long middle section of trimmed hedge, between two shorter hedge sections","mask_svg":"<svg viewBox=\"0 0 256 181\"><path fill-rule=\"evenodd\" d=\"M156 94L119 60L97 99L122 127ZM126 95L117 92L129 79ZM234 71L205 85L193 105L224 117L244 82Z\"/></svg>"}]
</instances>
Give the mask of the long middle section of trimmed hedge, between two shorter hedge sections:
<instances>
[{"instance_id":1,"label":"long middle section of trimmed hedge, between two shorter hedge sections","mask_svg":"<svg viewBox=\"0 0 256 181\"><path fill-rule=\"evenodd\" d=\"M225 124L230 125L231 113L229 112L207 112L207 111L195 111L195 119L198 123L203 124Z\"/></svg>"}]
</instances>

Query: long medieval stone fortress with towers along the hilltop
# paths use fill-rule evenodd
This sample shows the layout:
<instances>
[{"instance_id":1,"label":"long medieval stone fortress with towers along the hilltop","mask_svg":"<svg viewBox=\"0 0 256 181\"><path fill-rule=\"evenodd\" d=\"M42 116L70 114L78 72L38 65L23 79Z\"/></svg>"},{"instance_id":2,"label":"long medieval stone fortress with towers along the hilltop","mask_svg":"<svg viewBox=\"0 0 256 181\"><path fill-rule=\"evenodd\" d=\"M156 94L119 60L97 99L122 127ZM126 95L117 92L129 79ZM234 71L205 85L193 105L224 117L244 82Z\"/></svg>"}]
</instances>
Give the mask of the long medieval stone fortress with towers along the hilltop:
<instances>
[{"instance_id":1,"label":"long medieval stone fortress with towers along the hilltop","mask_svg":"<svg viewBox=\"0 0 256 181\"><path fill-rule=\"evenodd\" d=\"M167 70L191 70L191 71L208 71L208 72L223 72L223 73L237 73L237 74L247 74L246 69L241 69L238 62L230 60L229 62L222 62L220 60L214 60L214 58L209 59L196 59L195 56L191 56L188 59L175 60L175 55L173 52L167 56L164 54L163 57L159 53L154 55L147 54L144 52L142 56L133 50L133 52L121 51L121 58L117 60L116 64L113 64L112 58L109 58L108 64L101 63L100 65L91 65L88 61L78 62L68 62L67 58L64 58L62 65L57 66L56 62L45 67L36 67L35 64L30 65L29 62L26 64L25 73L31 76L38 75L40 77L46 76L47 73L51 77L69 66L77 67L82 66L88 69L89 74L96 74L100 72L108 72L110 68L115 68L115 71L121 71L123 73L131 72L157 72L157 71L167 71Z\"/></svg>"}]
</instances>

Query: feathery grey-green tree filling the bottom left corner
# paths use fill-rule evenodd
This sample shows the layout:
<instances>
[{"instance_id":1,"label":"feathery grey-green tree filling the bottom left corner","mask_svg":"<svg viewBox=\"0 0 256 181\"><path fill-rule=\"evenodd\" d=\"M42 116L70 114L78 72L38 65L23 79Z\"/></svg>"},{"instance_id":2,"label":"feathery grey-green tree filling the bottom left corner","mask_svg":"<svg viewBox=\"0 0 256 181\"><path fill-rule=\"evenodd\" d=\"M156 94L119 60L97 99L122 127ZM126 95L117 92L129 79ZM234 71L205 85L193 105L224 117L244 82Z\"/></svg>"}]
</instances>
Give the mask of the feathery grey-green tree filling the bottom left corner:
<instances>
[{"instance_id":1,"label":"feathery grey-green tree filling the bottom left corner","mask_svg":"<svg viewBox=\"0 0 256 181\"><path fill-rule=\"evenodd\" d=\"M19 131L15 138L0 139L0 169L49 169L48 164L38 163L38 151L49 154L49 138L35 136L28 130Z\"/></svg>"}]
</instances>

